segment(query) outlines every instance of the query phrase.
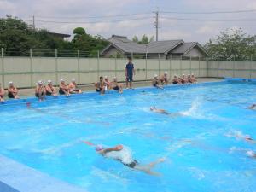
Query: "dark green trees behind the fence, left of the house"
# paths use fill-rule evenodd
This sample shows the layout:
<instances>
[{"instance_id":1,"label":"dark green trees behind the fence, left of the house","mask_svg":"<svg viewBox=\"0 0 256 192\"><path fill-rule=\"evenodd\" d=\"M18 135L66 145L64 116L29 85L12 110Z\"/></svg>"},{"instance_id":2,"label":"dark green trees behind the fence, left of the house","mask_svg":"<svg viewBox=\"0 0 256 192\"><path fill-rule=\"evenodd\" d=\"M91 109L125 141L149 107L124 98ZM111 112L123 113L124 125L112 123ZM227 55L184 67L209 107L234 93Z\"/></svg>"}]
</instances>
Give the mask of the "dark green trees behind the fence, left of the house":
<instances>
[{"instance_id":1,"label":"dark green trees behind the fence, left of the house","mask_svg":"<svg viewBox=\"0 0 256 192\"><path fill-rule=\"evenodd\" d=\"M33 30L18 18L9 15L0 18L0 48L6 49L5 55L29 55L29 49L33 49L38 56L55 56L58 49L59 56L77 56L77 50L81 56L89 56L97 55L98 50L108 45L105 38L90 36L82 27L75 28L73 34L69 42L49 34L46 29Z\"/></svg>"}]
</instances>

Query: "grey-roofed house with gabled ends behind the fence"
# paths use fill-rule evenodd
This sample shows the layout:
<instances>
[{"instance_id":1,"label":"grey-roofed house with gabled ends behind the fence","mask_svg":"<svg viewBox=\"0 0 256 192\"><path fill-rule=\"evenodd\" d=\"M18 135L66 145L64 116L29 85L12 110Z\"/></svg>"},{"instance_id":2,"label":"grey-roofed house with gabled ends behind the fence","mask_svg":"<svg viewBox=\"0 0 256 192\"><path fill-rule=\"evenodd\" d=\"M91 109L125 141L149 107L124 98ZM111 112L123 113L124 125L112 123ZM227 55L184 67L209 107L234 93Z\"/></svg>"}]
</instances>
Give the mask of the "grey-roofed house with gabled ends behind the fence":
<instances>
[{"instance_id":1,"label":"grey-roofed house with gabled ends behind the fence","mask_svg":"<svg viewBox=\"0 0 256 192\"><path fill-rule=\"evenodd\" d=\"M137 44L127 37L113 35L109 45L102 50L104 57L133 56L137 58L190 58L206 57L207 52L197 42L185 43L182 39L154 41L149 44Z\"/></svg>"}]
</instances>

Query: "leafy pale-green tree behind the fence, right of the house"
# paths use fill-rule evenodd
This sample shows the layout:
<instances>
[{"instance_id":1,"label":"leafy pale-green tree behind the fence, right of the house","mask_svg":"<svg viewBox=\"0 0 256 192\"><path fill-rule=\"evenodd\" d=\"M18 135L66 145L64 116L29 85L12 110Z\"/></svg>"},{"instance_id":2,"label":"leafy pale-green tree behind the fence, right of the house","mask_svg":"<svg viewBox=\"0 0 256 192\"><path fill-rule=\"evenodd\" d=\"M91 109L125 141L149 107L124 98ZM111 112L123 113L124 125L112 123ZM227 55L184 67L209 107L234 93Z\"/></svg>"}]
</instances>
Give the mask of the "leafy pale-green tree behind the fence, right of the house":
<instances>
[{"instance_id":1,"label":"leafy pale-green tree behind the fence, right of the house","mask_svg":"<svg viewBox=\"0 0 256 192\"><path fill-rule=\"evenodd\" d=\"M256 58L256 36L247 35L241 28L226 30L210 39L205 48L212 60L250 60Z\"/></svg>"}]
</instances>

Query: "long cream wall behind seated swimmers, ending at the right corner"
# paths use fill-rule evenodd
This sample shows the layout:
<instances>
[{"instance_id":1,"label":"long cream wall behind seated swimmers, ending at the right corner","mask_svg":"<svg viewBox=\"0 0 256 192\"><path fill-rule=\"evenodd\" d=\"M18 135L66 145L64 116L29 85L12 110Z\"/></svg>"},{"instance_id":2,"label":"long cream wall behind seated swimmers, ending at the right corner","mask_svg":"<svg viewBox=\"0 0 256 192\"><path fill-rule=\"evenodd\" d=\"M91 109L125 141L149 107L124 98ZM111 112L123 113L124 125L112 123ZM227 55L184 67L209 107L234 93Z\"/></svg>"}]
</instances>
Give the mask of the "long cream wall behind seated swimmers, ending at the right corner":
<instances>
[{"instance_id":1,"label":"long cream wall behind seated swimmers, ending at the right corner","mask_svg":"<svg viewBox=\"0 0 256 192\"><path fill-rule=\"evenodd\" d=\"M99 76L107 75L125 81L126 59L114 58L52 58L52 57L3 57L0 59L0 82L7 87L13 81L18 87L34 87L38 80L60 79L69 82L75 78L79 84L92 84ZM166 59L134 59L135 80L153 79L154 74L165 71L174 74L195 73L207 76L207 61L180 61Z\"/></svg>"}]
</instances>

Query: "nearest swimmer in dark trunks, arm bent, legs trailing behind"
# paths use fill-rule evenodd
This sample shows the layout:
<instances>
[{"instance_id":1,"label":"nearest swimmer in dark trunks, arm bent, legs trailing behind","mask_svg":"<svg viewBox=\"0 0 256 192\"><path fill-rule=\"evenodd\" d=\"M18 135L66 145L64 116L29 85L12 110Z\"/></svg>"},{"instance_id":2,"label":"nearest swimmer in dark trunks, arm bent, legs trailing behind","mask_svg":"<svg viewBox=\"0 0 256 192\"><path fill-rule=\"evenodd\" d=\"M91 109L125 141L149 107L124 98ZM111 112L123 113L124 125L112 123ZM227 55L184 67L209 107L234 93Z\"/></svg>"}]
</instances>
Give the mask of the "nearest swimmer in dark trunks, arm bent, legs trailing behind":
<instances>
[{"instance_id":1,"label":"nearest swimmer in dark trunks, arm bent, legs trailing behind","mask_svg":"<svg viewBox=\"0 0 256 192\"><path fill-rule=\"evenodd\" d=\"M151 169L157 164L163 162L165 159L161 158L148 165L141 165L132 158L131 152L123 147L123 145L117 145L113 148L103 148L102 145L96 146L96 152L102 154L102 156L107 158L113 158L114 160L119 160L125 166L130 167L141 172L145 172L149 175L159 176L160 173L152 172ZM124 155L125 154L125 155Z\"/></svg>"}]
</instances>

